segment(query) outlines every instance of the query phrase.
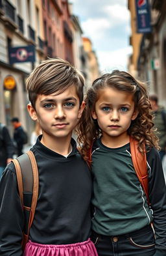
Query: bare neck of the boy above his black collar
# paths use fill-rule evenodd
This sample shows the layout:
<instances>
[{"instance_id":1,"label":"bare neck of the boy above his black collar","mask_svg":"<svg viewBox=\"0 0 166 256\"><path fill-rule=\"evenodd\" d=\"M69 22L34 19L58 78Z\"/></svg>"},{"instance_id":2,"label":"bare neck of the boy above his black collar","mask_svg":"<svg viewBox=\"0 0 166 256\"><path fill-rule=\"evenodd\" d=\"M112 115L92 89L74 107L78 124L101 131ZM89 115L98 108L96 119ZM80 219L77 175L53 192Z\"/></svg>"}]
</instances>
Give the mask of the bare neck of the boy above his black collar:
<instances>
[{"instance_id":1,"label":"bare neck of the boy above his black collar","mask_svg":"<svg viewBox=\"0 0 166 256\"><path fill-rule=\"evenodd\" d=\"M45 137L42 136L42 139L40 141L45 147L48 149L53 150L54 152L58 154L62 154L62 156L65 156L71 152L72 146L71 146L71 137L68 138L53 138L45 139Z\"/></svg>"}]
</instances>

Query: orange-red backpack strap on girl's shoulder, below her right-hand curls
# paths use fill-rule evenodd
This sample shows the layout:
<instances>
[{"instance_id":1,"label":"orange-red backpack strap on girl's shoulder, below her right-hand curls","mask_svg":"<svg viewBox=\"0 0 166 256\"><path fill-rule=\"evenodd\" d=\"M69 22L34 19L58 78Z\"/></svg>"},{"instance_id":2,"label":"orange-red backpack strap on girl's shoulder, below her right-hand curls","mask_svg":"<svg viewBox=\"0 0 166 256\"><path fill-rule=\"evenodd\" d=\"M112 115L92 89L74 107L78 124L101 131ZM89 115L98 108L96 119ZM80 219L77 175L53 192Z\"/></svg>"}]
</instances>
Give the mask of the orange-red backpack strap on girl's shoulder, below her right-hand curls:
<instances>
[{"instance_id":1,"label":"orange-red backpack strap on girl's shoulder, below her right-hand curls","mask_svg":"<svg viewBox=\"0 0 166 256\"><path fill-rule=\"evenodd\" d=\"M134 169L136 171L137 177L145 195L147 196L148 205L150 205L149 197L148 197L148 171L147 171L147 156L145 151L144 144L144 153L142 154L138 150L138 141L130 136L130 151L132 155L132 162L134 165Z\"/></svg>"}]
</instances>

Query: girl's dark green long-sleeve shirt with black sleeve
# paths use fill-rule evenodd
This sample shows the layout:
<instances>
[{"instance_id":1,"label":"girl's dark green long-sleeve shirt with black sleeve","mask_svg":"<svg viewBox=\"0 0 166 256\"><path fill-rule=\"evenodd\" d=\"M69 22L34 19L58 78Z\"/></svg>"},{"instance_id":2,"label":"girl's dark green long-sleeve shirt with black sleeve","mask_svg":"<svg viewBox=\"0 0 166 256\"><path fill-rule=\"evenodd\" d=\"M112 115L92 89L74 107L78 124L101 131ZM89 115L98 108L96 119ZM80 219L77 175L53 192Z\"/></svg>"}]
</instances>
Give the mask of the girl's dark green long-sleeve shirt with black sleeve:
<instances>
[{"instance_id":1,"label":"girl's dark green long-sleeve shirt with black sleeve","mask_svg":"<svg viewBox=\"0 0 166 256\"><path fill-rule=\"evenodd\" d=\"M110 149L98 139L93 149L92 229L102 235L123 235L153 221L156 248L165 249L166 255L166 188L158 151L152 148L147 153L151 210L134 171L130 144Z\"/></svg>"}]
</instances>

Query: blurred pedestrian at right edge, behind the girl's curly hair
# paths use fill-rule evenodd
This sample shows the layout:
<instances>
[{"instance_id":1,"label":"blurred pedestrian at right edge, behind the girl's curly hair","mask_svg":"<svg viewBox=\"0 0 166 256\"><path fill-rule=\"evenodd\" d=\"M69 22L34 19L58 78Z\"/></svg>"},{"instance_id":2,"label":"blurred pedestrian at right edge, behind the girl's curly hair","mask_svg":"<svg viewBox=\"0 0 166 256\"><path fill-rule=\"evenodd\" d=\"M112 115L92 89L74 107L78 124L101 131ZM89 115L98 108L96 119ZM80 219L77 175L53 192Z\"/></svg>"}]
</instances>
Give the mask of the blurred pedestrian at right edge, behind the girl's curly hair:
<instances>
[{"instance_id":1,"label":"blurred pedestrian at right edge, behind the girl's curly hair","mask_svg":"<svg viewBox=\"0 0 166 256\"><path fill-rule=\"evenodd\" d=\"M159 138L159 146L161 148L159 154L162 160L166 147L166 110L158 105L158 96L156 94L150 94L149 100L154 113L154 126L157 128L156 135Z\"/></svg>"}]
</instances>

